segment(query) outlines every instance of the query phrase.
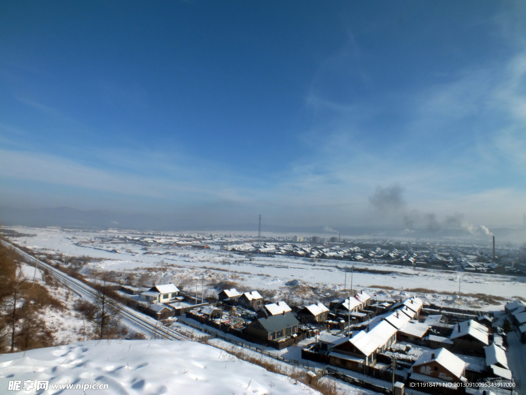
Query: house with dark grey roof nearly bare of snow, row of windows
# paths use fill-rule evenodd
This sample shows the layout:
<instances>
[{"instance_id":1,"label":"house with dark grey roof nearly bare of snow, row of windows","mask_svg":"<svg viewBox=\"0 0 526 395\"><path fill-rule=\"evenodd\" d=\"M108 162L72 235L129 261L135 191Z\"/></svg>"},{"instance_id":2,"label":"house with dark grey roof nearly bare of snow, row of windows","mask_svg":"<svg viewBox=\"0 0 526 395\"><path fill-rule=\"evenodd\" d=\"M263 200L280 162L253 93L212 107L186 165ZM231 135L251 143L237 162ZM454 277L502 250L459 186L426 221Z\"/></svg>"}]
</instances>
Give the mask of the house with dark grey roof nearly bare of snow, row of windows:
<instances>
[{"instance_id":1,"label":"house with dark grey roof nearly bare of snow, row of windows","mask_svg":"<svg viewBox=\"0 0 526 395\"><path fill-rule=\"evenodd\" d=\"M260 317L247 326L247 333L261 340L280 341L298 332L299 321L291 311Z\"/></svg>"}]
</instances>

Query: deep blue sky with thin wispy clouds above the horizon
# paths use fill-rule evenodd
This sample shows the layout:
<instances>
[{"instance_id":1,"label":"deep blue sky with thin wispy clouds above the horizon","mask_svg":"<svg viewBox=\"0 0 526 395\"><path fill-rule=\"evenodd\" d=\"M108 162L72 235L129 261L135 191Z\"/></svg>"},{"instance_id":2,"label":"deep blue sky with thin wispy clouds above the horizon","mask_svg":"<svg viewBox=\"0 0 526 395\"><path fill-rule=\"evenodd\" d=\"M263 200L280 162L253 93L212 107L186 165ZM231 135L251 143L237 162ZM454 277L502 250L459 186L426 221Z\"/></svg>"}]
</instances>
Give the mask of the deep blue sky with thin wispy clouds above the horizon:
<instances>
[{"instance_id":1,"label":"deep blue sky with thin wispy clouds above the horizon","mask_svg":"<svg viewBox=\"0 0 526 395\"><path fill-rule=\"evenodd\" d=\"M0 205L520 224L524 20L523 2L3 2Z\"/></svg>"}]
</instances>

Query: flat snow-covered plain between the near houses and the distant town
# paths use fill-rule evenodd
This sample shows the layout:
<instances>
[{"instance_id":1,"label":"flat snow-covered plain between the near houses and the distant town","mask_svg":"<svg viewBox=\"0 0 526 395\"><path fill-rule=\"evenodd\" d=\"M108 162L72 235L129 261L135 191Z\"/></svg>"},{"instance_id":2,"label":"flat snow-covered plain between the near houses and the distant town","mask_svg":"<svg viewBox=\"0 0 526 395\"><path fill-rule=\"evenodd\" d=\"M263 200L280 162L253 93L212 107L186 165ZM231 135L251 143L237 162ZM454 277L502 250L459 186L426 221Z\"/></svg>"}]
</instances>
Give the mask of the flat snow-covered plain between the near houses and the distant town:
<instances>
[{"instance_id":1,"label":"flat snow-covered plain between the near houses and the distant town","mask_svg":"<svg viewBox=\"0 0 526 395\"><path fill-rule=\"evenodd\" d=\"M290 256L252 256L235 254L217 249L195 250L190 246L155 244L144 246L131 243L125 236L137 236L136 233L120 232L119 241L110 240L115 232L87 232L61 230L57 228L11 228L17 232L33 236L11 238L17 245L54 255L63 256L66 264L74 257L87 262L79 270L86 275L94 271L113 271L117 281L128 285L137 278L148 274L151 282L174 282L183 285L185 290L195 292L196 279L201 290L201 278L205 279L204 293L216 293L214 284L231 280L246 289L267 290L277 299L296 298L297 304L332 298L338 292L350 288L350 273L345 275L343 266L354 266L353 288L365 288L375 293L375 287L392 287L395 290L382 291L385 298L398 299L405 294L404 289L426 289L429 292L417 293L424 301L470 307L495 309L494 305L484 305L478 298L458 298L441 295L442 292L458 292L459 277L462 293L479 293L511 299L514 296L526 297L526 279L497 274L470 272L450 272L407 268L388 264L344 262L337 260L316 260L294 258ZM109 236L109 237L108 237ZM161 263L161 260L164 263ZM62 261L62 259L60 259ZM161 280L161 266L163 278ZM339 266L337 268L336 266ZM367 270L363 271L363 270ZM360 272L363 271L363 272ZM377 272L375 272L377 271ZM382 271L382 272L379 272ZM118 273L122 275L119 276ZM135 280L129 276L135 275ZM347 278L346 278L347 277ZM288 286L291 280L299 285ZM149 284L151 284L151 282ZM324 301L327 301L325 299ZM505 301L502 301L504 304Z\"/></svg>"}]
</instances>

